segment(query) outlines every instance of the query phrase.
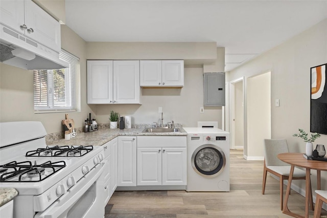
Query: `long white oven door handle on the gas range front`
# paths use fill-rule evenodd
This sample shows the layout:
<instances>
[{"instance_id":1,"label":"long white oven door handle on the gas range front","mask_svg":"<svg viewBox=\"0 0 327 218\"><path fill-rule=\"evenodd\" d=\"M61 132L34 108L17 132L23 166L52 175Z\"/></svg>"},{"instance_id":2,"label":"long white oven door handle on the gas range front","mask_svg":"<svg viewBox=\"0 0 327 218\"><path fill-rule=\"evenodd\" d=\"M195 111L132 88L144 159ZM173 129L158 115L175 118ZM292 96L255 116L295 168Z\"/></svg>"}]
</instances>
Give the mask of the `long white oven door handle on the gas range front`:
<instances>
[{"instance_id":1,"label":"long white oven door handle on the gas range front","mask_svg":"<svg viewBox=\"0 0 327 218\"><path fill-rule=\"evenodd\" d=\"M34 218L56 218L66 217L69 209L82 197L82 195L94 184L101 176L104 167L102 164L97 164L84 177L82 177L76 185L68 189L57 201L55 201L49 208L37 213ZM97 188L97 187L96 187ZM99 198L99 196L96 196Z\"/></svg>"}]
</instances>

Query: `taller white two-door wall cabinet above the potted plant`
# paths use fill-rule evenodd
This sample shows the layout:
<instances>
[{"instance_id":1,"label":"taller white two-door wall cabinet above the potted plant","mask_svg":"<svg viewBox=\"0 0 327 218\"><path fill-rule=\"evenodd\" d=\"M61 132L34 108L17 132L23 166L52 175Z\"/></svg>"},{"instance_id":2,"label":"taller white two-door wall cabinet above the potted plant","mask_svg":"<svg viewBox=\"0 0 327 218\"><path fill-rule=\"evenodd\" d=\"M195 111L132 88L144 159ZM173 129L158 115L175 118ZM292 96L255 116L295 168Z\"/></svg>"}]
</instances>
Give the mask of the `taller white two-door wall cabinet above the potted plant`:
<instances>
[{"instance_id":1,"label":"taller white two-door wall cabinet above the potted plant","mask_svg":"<svg viewBox=\"0 0 327 218\"><path fill-rule=\"evenodd\" d=\"M138 60L88 60L88 104L139 104Z\"/></svg>"}]
</instances>

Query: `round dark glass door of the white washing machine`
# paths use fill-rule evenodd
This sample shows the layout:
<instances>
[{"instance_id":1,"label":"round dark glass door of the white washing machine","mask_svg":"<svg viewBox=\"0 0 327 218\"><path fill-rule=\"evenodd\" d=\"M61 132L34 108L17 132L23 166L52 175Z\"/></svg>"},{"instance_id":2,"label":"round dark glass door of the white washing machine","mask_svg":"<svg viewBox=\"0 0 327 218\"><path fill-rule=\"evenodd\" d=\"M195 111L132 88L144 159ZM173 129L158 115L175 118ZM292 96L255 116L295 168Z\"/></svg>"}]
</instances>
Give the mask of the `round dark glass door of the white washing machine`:
<instances>
[{"instance_id":1,"label":"round dark glass door of the white washing machine","mask_svg":"<svg viewBox=\"0 0 327 218\"><path fill-rule=\"evenodd\" d=\"M193 169L203 177L218 176L226 165L224 152L216 145L204 144L198 147L191 158Z\"/></svg>"}]
</instances>

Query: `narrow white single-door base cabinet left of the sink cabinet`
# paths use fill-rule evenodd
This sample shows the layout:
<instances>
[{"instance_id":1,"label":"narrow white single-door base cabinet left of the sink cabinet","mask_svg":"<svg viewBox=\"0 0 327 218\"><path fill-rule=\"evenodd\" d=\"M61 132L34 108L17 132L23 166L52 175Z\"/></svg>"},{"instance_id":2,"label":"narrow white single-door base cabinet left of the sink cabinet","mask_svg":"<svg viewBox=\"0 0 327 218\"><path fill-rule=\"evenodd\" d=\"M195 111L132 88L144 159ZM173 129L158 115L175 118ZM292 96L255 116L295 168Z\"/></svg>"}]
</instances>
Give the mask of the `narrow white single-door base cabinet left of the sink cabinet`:
<instances>
[{"instance_id":1,"label":"narrow white single-door base cabinet left of the sink cabinet","mask_svg":"<svg viewBox=\"0 0 327 218\"><path fill-rule=\"evenodd\" d=\"M136 186L136 136L118 137L118 186Z\"/></svg>"}]
</instances>

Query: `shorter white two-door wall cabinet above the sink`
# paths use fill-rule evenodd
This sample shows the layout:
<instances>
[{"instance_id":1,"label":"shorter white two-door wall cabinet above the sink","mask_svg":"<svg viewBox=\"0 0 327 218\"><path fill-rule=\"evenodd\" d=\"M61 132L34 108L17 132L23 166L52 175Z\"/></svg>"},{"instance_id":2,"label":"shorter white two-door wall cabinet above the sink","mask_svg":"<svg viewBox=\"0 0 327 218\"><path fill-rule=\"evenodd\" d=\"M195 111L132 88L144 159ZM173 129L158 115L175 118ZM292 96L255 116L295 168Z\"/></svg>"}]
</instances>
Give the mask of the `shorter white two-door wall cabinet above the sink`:
<instances>
[{"instance_id":1,"label":"shorter white two-door wall cabinet above the sink","mask_svg":"<svg viewBox=\"0 0 327 218\"><path fill-rule=\"evenodd\" d=\"M144 87L184 86L184 61L140 60L140 85Z\"/></svg>"}]
</instances>

